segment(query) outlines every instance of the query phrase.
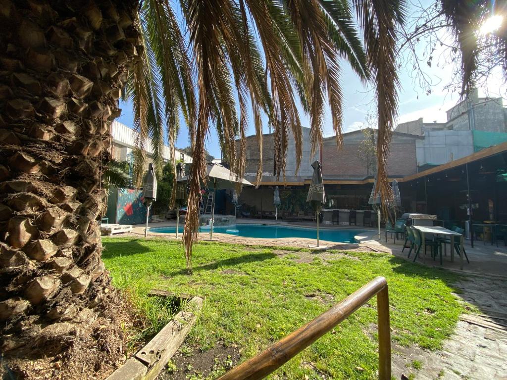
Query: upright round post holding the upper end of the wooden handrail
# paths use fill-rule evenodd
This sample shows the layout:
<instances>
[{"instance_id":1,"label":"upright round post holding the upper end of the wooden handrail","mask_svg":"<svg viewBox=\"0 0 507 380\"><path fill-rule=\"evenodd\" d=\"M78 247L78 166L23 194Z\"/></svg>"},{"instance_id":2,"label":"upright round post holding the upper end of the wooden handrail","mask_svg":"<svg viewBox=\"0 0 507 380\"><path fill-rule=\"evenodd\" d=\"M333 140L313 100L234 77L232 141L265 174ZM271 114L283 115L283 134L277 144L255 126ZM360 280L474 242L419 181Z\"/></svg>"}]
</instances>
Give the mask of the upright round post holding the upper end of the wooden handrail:
<instances>
[{"instance_id":1,"label":"upright round post holding the upper end of the wooden handrail","mask_svg":"<svg viewBox=\"0 0 507 380\"><path fill-rule=\"evenodd\" d=\"M384 289L377 293L377 321L379 330L379 380L391 380L391 328L387 284Z\"/></svg>"}]
</instances>

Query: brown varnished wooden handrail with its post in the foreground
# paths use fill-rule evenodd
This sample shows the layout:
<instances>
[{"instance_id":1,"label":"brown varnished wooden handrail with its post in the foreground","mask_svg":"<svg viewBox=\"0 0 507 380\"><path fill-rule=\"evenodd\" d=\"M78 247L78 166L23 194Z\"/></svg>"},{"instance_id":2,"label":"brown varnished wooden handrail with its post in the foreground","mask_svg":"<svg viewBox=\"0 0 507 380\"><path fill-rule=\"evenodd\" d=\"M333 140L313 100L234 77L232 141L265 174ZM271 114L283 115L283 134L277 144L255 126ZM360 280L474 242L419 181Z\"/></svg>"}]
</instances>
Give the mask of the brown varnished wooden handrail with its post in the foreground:
<instances>
[{"instance_id":1,"label":"brown varnished wooden handrail with its post in the foreground","mask_svg":"<svg viewBox=\"0 0 507 380\"><path fill-rule=\"evenodd\" d=\"M257 356L248 359L219 377L219 380L254 380L266 377L291 360L322 335L331 331L357 309L377 296L379 380L391 379L391 331L389 325L389 293L387 281L377 277L350 294L327 312L300 327L270 346Z\"/></svg>"}]
</instances>

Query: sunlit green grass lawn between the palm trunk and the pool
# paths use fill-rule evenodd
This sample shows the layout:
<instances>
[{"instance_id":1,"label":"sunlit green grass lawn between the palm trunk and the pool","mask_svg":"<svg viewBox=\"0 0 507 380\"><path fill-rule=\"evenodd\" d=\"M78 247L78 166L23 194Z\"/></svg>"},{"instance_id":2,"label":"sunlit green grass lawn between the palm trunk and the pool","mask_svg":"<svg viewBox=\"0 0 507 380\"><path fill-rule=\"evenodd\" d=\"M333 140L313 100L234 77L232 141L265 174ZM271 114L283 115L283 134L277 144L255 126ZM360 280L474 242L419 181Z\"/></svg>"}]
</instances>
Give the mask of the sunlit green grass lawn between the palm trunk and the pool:
<instances>
[{"instance_id":1,"label":"sunlit green grass lawn between the palm trunk and the pool","mask_svg":"<svg viewBox=\"0 0 507 380\"><path fill-rule=\"evenodd\" d=\"M203 242L194 247L194 273L188 275L178 242L104 238L103 244L103 259L115 286L133 292L139 310L153 324L146 334L158 331L171 317L159 299L146 296L148 290L204 295L202 316L186 347L206 351L218 343L237 345L242 359L377 276L389 284L391 329L397 344L438 349L464 311L451 294L458 276L389 254L310 254ZM275 378L375 378L376 318L373 298L333 333L282 366Z\"/></svg>"}]
</instances>

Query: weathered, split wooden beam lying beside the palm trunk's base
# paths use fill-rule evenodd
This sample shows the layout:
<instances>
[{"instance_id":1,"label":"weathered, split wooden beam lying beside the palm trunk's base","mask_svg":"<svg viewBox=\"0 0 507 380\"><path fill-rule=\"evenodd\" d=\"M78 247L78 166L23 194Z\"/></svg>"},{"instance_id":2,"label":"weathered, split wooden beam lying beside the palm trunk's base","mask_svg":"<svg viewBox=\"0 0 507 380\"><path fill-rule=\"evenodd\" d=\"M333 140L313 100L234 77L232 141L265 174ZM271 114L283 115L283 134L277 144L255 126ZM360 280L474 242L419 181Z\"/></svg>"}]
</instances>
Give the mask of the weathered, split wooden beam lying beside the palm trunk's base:
<instances>
[{"instance_id":1,"label":"weathered, split wooden beam lying beside the palm trunk's base","mask_svg":"<svg viewBox=\"0 0 507 380\"><path fill-rule=\"evenodd\" d=\"M146 346L106 380L153 380L174 355L197 320L203 298L193 297Z\"/></svg>"}]
</instances>

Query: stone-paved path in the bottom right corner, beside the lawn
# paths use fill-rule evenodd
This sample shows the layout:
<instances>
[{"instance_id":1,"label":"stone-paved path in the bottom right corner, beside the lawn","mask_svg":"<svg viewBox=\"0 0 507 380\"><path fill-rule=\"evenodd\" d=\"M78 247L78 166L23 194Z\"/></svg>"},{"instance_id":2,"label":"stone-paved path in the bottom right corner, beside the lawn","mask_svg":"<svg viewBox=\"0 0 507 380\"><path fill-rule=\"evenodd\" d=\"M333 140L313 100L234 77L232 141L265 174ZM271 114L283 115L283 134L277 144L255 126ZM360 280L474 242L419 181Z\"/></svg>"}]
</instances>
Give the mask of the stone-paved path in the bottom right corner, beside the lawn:
<instances>
[{"instance_id":1,"label":"stone-paved path in the bottom right corner, beside the lawn","mask_svg":"<svg viewBox=\"0 0 507 380\"><path fill-rule=\"evenodd\" d=\"M393 347L394 378L507 380L507 281L470 276L455 287L463 291L456 296L480 312L462 315L441 351Z\"/></svg>"}]
</instances>

